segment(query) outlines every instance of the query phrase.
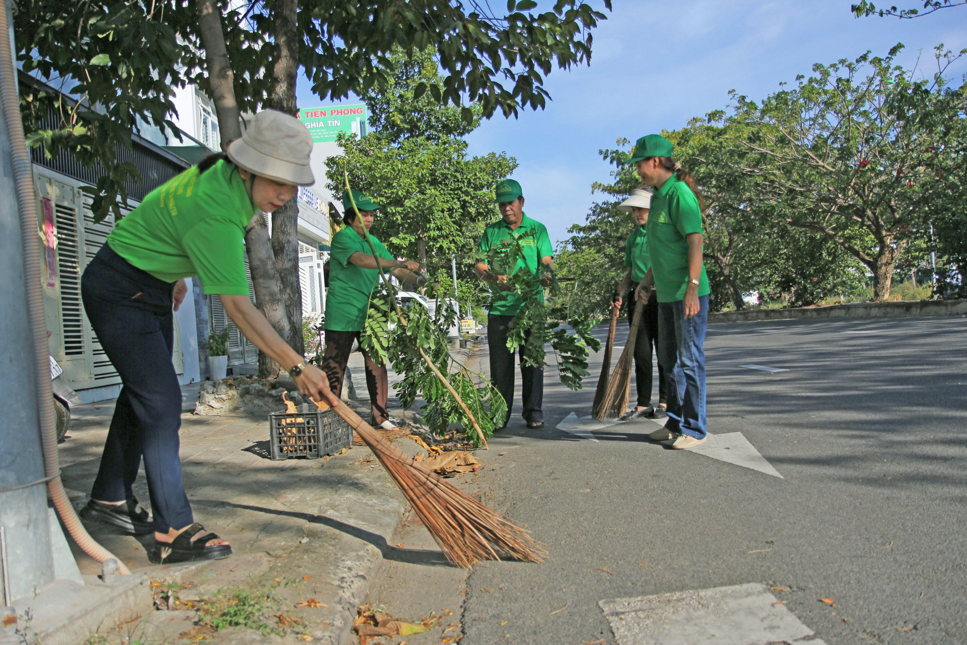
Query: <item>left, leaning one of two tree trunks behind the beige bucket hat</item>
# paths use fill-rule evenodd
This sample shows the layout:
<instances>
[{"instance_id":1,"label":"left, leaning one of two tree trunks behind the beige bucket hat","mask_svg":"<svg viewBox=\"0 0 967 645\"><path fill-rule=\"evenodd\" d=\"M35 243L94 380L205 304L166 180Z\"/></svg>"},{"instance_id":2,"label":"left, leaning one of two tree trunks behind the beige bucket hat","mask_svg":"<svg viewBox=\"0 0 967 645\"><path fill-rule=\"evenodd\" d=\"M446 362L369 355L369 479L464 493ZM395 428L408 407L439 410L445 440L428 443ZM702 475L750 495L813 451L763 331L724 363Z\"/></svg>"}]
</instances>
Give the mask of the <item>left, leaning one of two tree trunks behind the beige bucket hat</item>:
<instances>
[{"instance_id":1,"label":"left, leaning one of two tree trunks behind the beige bucket hat","mask_svg":"<svg viewBox=\"0 0 967 645\"><path fill-rule=\"evenodd\" d=\"M219 115L221 147L225 149L242 136L238 103L235 101L234 74L225 36L221 28L221 13L216 0L198 0L198 33L205 47L205 65L212 90L215 111ZM289 321L276 270L276 258L269 242L269 231L261 213L256 213L245 236L249 255L251 282L255 290L255 306L259 308L278 335L288 338ZM262 352L258 354L258 375L269 378L278 374L278 365Z\"/></svg>"}]
</instances>

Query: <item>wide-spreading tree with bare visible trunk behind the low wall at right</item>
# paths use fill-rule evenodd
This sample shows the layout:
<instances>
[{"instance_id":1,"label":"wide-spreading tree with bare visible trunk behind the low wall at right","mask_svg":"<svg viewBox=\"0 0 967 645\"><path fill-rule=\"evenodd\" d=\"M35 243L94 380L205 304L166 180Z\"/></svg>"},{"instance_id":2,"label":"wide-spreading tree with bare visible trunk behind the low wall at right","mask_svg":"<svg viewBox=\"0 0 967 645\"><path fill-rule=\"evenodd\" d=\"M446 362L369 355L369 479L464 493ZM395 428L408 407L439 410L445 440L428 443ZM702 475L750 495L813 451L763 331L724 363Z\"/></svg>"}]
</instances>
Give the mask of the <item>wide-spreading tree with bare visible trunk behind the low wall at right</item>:
<instances>
[{"instance_id":1,"label":"wide-spreading tree with bare visible trunk behind the low wall at right","mask_svg":"<svg viewBox=\"0 0 967 645\"><path fill-rule=\"evenodd\" d=\"M712 115L755 179L749 203L782 206L793 226L827 236L872 275L873 299L887 300L898 255L943 184L956 96L943 73L957 56L937 49L938 72L918 80L885 58L813 66L761 103L733 93L734 113Z\"/></svg>"}]
</instances>

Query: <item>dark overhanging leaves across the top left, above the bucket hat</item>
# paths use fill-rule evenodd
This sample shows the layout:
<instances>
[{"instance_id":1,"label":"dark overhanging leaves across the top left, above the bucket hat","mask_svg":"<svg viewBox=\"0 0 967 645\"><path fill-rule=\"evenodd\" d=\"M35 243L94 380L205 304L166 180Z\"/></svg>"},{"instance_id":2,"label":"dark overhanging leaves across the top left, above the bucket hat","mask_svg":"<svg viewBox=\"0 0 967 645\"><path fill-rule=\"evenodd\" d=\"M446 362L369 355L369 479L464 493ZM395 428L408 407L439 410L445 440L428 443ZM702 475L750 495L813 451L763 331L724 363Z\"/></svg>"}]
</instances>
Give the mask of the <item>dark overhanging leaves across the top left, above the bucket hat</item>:
<instances>
[{"instance_id":1,"label":"dark overhanging leaves across the top left, above the bucket hat","mask_svg":"<svg viewBox=\"0 0 967 645\"><path fill-rule=\"evenodd\" d=\"M602 4L610 9L610 0ZM470 124L497 110L516 115L524 106L543 107L544 77L555 65L569 69L590 61L591 31L605 18L570 0L540 14L529 11L536 3L527 0L509 3L503 15L477 5L302 0L293 35L277 33L289 6L283 0L231 3L222 22L238 104L252 111L282 101L275 96L277 74L292 71L279 67L287 56L281 49L294 40L298 64L320 99L380 93L390 84L394 51L430 50L442 73L418 83L415 99L427 95L458 106ZM24 71L84 100L76 110L59 104L63 118L50 132L38 133L36 119L26 119L27 134L51 154L71 150L85 164L100 163L105 179L97 187L96 217L111 208L119 212L116 200L126 199L125 182L140 177L119 161L117 146L130 148L130 133L139 124L177 138L170 121L173 88L194 83L209 89L195 3L23 0L16 5L15 34ZM34 97L42 99L60 101ZM464 101L476 102L477 111Z\"/></svg>"}]
</instances>

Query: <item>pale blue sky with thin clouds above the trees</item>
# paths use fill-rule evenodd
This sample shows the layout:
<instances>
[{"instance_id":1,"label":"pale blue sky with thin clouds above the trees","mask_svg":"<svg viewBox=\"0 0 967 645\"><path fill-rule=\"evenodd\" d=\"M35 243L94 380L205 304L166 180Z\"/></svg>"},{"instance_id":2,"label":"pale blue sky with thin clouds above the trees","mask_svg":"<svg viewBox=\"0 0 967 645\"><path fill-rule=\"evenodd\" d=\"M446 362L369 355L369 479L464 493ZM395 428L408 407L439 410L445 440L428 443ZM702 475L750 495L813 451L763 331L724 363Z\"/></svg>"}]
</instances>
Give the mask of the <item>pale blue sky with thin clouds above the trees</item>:
<instances>
[{"instance_id":1,"label":"pale blue sky with thin clouds above the trees","mask_svg":"<svg viewBox=\"0 0 967 645\"><path fill-rule=\"evenodd\" d=\"M586 0L601 7L600 0ZM903 8L921 0L887 0ZM503 6L502 2L498 2ZM550 2L542 2L551 5ZM761 99L809 73L813 63L856 58L867 49L898 56L929 75L932 50L967 48L967 7L932 15L855 18L850 0L614 0L614 11L594 34L590 67L554 70L544 87L552 101L519 118L494 116L472 132L470 153L507 152L520 166L513 178L527 198L526 212L542 221L552 241L569 237L601 195L591 184L608 178L598 151L624 136L632 141L683 127L695 116L724 107L728 91ZM967 57L949 70L959 80ZM305 88L308 83L304 83ZM301 106L318 99L300 93ZM350 102L346 102L350 103ZM495 213L496 215L496 213Z\"/></svg>"}]
</instances>

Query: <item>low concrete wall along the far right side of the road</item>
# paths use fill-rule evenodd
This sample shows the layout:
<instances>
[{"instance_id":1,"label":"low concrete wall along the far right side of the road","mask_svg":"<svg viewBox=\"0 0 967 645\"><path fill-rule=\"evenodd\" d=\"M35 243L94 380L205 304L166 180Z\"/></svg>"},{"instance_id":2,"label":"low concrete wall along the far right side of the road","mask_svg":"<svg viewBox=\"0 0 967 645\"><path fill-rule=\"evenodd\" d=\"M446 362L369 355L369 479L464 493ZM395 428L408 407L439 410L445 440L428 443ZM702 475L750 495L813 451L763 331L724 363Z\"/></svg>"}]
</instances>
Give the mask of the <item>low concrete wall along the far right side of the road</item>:
<instances>
[{"instance_id":1,"label":"low concrete wall along the far right side of the road","mask_svg":"<svg viewBox=\"0 0 967 645\"><path fill-rule=\"evenodd\" d=\"M895 301L892 303L853 303L829 307L787 309L747 309L710 313L709 322L744 320L792 320L797 318L883 318L890 316L952 316L967 314L967 300Z\"/></svg>"}]
</instances>

